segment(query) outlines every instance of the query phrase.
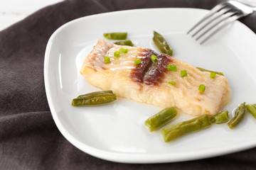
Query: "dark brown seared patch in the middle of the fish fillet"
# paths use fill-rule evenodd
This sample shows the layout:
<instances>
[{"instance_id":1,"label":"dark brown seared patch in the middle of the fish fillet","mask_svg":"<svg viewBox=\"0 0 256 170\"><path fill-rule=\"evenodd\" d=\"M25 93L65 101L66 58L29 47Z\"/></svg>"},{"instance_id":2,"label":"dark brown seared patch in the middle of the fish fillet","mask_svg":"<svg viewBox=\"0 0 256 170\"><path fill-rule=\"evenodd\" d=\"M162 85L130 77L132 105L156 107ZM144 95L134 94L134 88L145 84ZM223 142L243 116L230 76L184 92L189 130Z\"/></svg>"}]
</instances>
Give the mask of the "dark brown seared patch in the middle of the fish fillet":
<instances>
[{"instance_id":1,"label":"dark brown seared patch in the middle of the fish fillet","mask_svg":"<svg viewBox=\"0 0 256 170\"><path fill-rule=\"evenodd\" d=\"M156 55L157 62L151 60L151 55ZM142 60L136 68L132 69L130 77L133 81L144 83L146 85L158 85L164 77L164 72L167 71L166 67L171 62L171 57L165 54L157 54L153 50L143 49L138 56Z\"/></svg>"}]
</instances>

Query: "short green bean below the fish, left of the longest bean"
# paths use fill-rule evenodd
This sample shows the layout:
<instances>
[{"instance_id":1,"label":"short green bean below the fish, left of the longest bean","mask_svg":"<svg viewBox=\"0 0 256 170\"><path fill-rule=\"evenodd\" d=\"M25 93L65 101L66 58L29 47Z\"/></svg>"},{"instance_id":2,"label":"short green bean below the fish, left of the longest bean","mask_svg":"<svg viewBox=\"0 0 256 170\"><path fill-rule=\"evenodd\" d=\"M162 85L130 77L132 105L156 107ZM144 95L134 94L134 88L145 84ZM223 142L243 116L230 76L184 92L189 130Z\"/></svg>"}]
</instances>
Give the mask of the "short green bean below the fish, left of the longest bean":
<instances>
[{"instance_id":1,"label":"short green bean below the fish, left of the longest bean","mask_svg":"<svg viewBox=\"0 0 256 170\"><path fill-rule=\"evenodd\" d=\"M169 123L176 117L176 115L177 111L175 108L164 108L164 110L148 118L145 121L145 125L149 127L149 130L152 132L166 123Z\"/></svg>"}]
</instances>

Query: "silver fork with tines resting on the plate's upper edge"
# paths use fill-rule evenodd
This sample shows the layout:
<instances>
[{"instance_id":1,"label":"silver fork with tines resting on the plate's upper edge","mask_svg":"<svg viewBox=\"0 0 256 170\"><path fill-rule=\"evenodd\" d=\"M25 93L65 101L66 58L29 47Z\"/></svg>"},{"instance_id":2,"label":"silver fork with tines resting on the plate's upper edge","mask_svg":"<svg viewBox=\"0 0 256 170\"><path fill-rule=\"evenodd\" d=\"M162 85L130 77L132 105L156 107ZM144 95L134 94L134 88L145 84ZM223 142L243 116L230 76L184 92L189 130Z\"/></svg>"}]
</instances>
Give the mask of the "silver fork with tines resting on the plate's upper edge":
<instances>
[{"instance_id":1,"label":"silver fork with tines resting on the plate's upper edge","mask_svg":"<svg viewBox=\"0 0 256 170\"><path fill-rule=\"evenodd\" d=\"M219 30L232 23L233 21L247 16L256 11L255 6L242 4L238 1L224 1L210 10L195 26L188 30L196 40L200 40L200 44L206 42L210 37L218 33Z\"/></svg>"}]
</instances>

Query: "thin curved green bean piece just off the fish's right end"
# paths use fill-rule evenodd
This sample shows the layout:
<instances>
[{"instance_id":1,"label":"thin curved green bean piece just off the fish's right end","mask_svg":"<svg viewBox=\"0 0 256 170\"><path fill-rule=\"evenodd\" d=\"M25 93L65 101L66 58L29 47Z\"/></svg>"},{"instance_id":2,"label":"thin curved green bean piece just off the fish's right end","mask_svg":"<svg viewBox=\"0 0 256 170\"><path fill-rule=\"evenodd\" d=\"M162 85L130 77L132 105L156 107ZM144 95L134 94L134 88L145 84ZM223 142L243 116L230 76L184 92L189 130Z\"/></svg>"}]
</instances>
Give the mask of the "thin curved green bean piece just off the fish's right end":
<instances>
[{"instance_id":1,"label":"thin curved green bean piece just off the fish's right end","mask_svg":"<svg viewBox=\"0 0 256 170\"><path fill-rule=\"evenodd\" d=\"M230 129L235 128L245 115L245 102L235 109L235 116L228 122Z\"/></svg>"}]
</instances>

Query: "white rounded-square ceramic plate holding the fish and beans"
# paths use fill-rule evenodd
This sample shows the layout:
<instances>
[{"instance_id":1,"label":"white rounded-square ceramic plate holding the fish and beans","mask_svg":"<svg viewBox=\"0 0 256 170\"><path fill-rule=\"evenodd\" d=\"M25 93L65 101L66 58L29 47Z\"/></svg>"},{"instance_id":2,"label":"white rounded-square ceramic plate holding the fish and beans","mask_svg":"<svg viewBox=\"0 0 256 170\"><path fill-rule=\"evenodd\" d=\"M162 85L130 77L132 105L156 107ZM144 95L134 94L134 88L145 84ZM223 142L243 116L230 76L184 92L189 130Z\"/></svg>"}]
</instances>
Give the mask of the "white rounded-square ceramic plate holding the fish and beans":
<instances>
[{"instance_id":1,"label":"white rounded-square ceramic plate holding the fish and beans","mask_svg":"<svg viewBox=\"0 0 256 170\"><path fill-rule=\"evenodd\" d=\"M256 103L256 36L236 21L199 45L186 31L208 11L195 8L152 8L102 13L79 18L53 33L45 57L44 76L50 111L64 137L83 152L113 162L180 162L238 152L256 146L256 120L246 113L238 128L212 125L206 130L165 143L161 131L149 132L144 121L161 108L118 98L112 104L75 108L70 101L97 91L80 75L80 67L102 33L127 31L135 45L157 51L152 43L158 31L174 48L174 57L222 71L233 98L228 111L240 103ZM177 123L188 120L180 114Z\"/></svg>"}]
</instances>

